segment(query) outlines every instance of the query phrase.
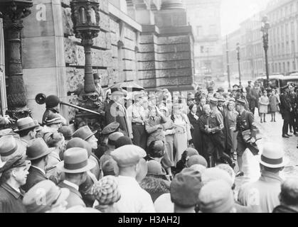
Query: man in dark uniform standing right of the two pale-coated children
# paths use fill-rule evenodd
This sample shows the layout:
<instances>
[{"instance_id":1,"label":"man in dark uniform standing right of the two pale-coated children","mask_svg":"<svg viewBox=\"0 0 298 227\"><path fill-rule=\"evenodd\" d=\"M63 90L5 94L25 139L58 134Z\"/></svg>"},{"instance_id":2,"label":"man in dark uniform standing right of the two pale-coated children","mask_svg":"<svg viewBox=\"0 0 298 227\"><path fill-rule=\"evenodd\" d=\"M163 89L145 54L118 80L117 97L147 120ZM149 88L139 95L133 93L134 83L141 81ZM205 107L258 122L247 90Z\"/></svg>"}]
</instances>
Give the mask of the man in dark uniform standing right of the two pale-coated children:
<instances>
[{"instance_id":1,"label":"man in dark uniform standing right of the two pale-coated children","mask_svg":"<svg viewBox=\"0 0 298 227\"><path fill-rule=\"evenodd\" d=\"M289 138L288 128L291 112L293 111L291 106L291 100L289 99L289 86L282 87L282 94L280 94L280 111L282 112L282 118L284 119L284 125L282 126L282 137Z\"/></svg>"}]
</instances>

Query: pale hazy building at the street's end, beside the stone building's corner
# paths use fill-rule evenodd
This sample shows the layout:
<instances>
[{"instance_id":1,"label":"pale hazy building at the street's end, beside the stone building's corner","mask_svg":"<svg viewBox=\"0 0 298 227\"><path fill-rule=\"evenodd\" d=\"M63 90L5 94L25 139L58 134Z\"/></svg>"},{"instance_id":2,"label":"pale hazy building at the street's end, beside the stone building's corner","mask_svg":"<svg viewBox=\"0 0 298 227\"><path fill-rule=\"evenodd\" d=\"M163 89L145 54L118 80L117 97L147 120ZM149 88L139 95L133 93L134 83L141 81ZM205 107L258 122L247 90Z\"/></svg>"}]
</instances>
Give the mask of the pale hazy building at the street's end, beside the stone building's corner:
<instances>
[{"instance_id":1,"label":"pale hazy building at the street's end, beside the stone building's corner","mask_svg":"<svg viewBox=\"0 0 298 227\"><path fill-rule=\"evenodd\" d=\"M220 0L183 0L195 38L196 74L223 74ZM198 79L198 78L196 78Z\"/></svg>"}]
</instances>

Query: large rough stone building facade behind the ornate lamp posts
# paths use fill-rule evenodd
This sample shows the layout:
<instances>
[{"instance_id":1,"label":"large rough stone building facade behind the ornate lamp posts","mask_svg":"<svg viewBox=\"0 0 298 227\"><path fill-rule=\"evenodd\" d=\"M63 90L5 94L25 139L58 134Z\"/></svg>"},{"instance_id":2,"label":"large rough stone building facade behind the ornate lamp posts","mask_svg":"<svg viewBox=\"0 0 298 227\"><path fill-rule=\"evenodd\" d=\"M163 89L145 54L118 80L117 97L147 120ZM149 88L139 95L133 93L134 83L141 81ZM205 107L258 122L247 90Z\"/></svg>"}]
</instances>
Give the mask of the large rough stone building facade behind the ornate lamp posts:
<instances>
[{"instance_id":1,"label":"large rough stone building facade behind the ornate lamp posts","mask_svg":"<svg viewBox=\"0 0 298 227\"><path fill-rule=\"evenodd\" d=\"M36 104L36 94L78 104L74 92L84 84L84 48L73 33L70 1L33 0L23 20L27 106L38 121L45 106ZM92 68L103 88L132 81L149 91L193 90L193 34L179 0L100 0L100 33L93 42ZM62 111L68 119L75 116L70 107Z\"/></svg>"}]
</instances>

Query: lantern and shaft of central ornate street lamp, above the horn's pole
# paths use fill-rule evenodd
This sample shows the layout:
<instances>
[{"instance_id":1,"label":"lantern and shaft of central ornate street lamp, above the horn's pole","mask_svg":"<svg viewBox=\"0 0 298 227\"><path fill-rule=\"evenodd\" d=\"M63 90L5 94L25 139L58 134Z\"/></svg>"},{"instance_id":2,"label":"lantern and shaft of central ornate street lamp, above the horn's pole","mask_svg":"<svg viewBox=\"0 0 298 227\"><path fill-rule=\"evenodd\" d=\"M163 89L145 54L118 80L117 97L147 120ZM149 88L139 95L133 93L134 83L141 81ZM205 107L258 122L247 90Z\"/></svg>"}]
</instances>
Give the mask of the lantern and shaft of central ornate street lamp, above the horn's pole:
<instances>
[{"instance_id":1,"label":"lantern and shaft of central ornate street lamp, above the horn's pole","mask_svg":"<svg viewBox=\"0 0 298 227\"><path fill-rule=\"evenodd\" d=\"M94 103L98 99L93 79L91 47L92 39L100 32L99 6L98 0L73 0L70 4L75 37L82 40L85 49L84 103Z\"/></svg>"}]
</instances>

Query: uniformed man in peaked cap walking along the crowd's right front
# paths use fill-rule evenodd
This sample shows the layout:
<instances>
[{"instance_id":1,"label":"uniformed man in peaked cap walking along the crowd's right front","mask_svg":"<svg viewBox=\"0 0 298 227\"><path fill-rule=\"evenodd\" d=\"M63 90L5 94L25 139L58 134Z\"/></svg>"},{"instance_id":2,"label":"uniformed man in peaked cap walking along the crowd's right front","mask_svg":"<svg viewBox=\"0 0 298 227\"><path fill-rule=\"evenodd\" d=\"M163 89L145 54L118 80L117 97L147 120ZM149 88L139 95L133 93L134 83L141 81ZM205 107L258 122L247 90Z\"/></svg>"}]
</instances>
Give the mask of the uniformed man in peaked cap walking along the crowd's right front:
<instances>
[{"instance_id":1,"label":"uniformed man in peaked cap walking along the crowd's right front","mask_svg":"<svg viewBox=\"0 0 298 227\"><path fill-rule=\"evenodd\" d=\"M239 166L239 172L236 174L236 177L243 176L243 160L242 155L246 148L250 149L252 154L256 155L259 150L257 144L255 143L255 135L257 127L255 126L254 116L250 111L245 110L245 101L238 99L236 101L236 110L239 113L237 118L237 124L235 131L238 131L237 135L237 161ZM250 140L245 142L243 138L243 132L250 130Z\"/></svg>"}]
</instances>

